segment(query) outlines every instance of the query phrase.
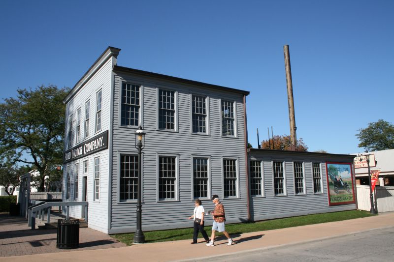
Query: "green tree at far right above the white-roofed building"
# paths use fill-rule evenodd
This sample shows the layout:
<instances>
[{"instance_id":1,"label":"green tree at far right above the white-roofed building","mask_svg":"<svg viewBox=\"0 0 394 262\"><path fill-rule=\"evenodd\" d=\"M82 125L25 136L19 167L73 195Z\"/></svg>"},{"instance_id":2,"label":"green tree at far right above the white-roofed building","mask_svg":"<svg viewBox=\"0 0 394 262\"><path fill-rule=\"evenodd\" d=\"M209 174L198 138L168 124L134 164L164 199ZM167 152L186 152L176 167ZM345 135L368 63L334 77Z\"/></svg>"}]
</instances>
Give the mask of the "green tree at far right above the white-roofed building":
<instances>
[{"instance_id":1,"label":"green tree at far right above the white-roofed building","mask_svg":"<svg viewBox=\"0 0 394 262\"><path fill-rule=\"evenodd\" d=\"M368 127L358 130L356 137L359 139L359 147L368 151L378 151L394 148L394 125L379 119L377 122L368 124Z\"/></svg>"}]
</instances>

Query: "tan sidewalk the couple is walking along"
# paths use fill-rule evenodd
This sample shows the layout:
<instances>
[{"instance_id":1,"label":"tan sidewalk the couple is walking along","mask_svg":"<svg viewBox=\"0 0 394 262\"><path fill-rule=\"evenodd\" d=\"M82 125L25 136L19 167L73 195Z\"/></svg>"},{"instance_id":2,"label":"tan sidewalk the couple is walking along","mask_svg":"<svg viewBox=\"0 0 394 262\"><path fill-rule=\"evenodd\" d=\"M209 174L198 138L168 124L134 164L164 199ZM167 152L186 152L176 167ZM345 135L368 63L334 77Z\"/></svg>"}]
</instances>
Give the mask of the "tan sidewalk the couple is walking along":
<instances>
[{"instance_id":1,"label":"tan sidewalk the couple is walking along","mask_svg":"<svg viewBox=\"0 0 394 262\"><path fill-rule=\"evenodd\" d=\"M227 239L215 241L215 246L205 246L205 241L199 239L199 244L191 245L190 240L149 243L112 249L73 250L66 253L40 254L13 257L13 262L123 262L123 261L208 261L209 258L240 254L252 250L276 248L285 245L319 241L321 239L341 235L373 231L375 229L393 228L394 212L378 216L330 222L316 225L270 230L264 232L243 233L233 237L234 244L227 245ZM192 236L191 236L192 237ZM0 262L10 258L0 258Z\"/></svg>"}]
</instances>

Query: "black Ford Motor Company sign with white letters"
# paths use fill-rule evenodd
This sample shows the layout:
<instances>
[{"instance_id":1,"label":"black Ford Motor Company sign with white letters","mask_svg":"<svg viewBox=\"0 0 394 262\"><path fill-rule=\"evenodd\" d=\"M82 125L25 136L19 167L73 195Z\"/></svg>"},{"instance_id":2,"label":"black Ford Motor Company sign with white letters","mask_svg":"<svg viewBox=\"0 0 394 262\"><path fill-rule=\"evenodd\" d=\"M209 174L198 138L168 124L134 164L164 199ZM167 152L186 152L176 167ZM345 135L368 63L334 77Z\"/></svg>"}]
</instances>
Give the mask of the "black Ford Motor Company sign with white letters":
<instances>
[{"instance_id":1,"label":"black Ford Motor Company sign with white letters","mask_svg":"<svg viewBox=\"0 0 394 262\"><path fill-rule=\"evenodd\" d=\"M64 152L63 162L67 163L75 159L96 153L108 148L108 130L95 136L84 143L74 146Z\"/></svg>"}]
</instances>

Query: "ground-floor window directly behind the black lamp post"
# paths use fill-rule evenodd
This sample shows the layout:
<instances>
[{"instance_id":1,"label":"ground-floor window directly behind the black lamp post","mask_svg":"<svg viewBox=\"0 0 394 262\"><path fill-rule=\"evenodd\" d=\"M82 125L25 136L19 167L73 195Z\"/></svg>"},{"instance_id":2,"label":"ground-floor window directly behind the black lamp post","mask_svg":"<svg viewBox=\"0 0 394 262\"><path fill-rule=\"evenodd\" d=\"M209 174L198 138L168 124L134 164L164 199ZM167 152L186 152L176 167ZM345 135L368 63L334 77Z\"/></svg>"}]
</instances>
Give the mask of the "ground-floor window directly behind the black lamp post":
<instances>
[{"instance_id":1,"label":"ground-floor window directly behind the black lamp post","mask_svg":"<svg viewBox=\"0 0 394 262\"><path fill-rule=\"evenodd\" d=\"M138 156L120 156L120 201L137 199L138 193Z\"/></svg>"}]
</instances>

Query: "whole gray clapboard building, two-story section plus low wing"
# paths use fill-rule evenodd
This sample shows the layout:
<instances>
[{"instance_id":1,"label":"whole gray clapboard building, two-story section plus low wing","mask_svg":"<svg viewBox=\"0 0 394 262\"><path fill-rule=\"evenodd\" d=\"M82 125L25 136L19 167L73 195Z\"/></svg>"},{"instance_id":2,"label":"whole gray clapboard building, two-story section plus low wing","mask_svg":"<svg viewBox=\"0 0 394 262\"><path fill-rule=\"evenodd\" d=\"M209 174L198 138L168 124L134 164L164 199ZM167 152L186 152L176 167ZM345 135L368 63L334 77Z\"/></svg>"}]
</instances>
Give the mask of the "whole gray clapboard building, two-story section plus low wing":
<instances>
[{"instance_id":1,"label":"whole gray clapboard building, two-story section plus low wing","mask_svg":"<svg viewBox=\"0 0 394 262\"><path fill-rule=\"evenodd\" d=\"M229 223L356 208L328 205L324 164L320 192L311 184L312 162L350 162L353 156L258 149L248 154L248 91L118 66L119 52L108 47L64 100L63 199L89 202L89 227L135 231L139 124L147 133L143 230L190 227L186 218L194 199L210 209L212 194L223 199ZM303 196L291 186L294 159L303 163ZM286 181L280 195L272 178L279 160ZM70 216L83 215L80 207L70 207Z\"/></svg>"}]
</instances>

